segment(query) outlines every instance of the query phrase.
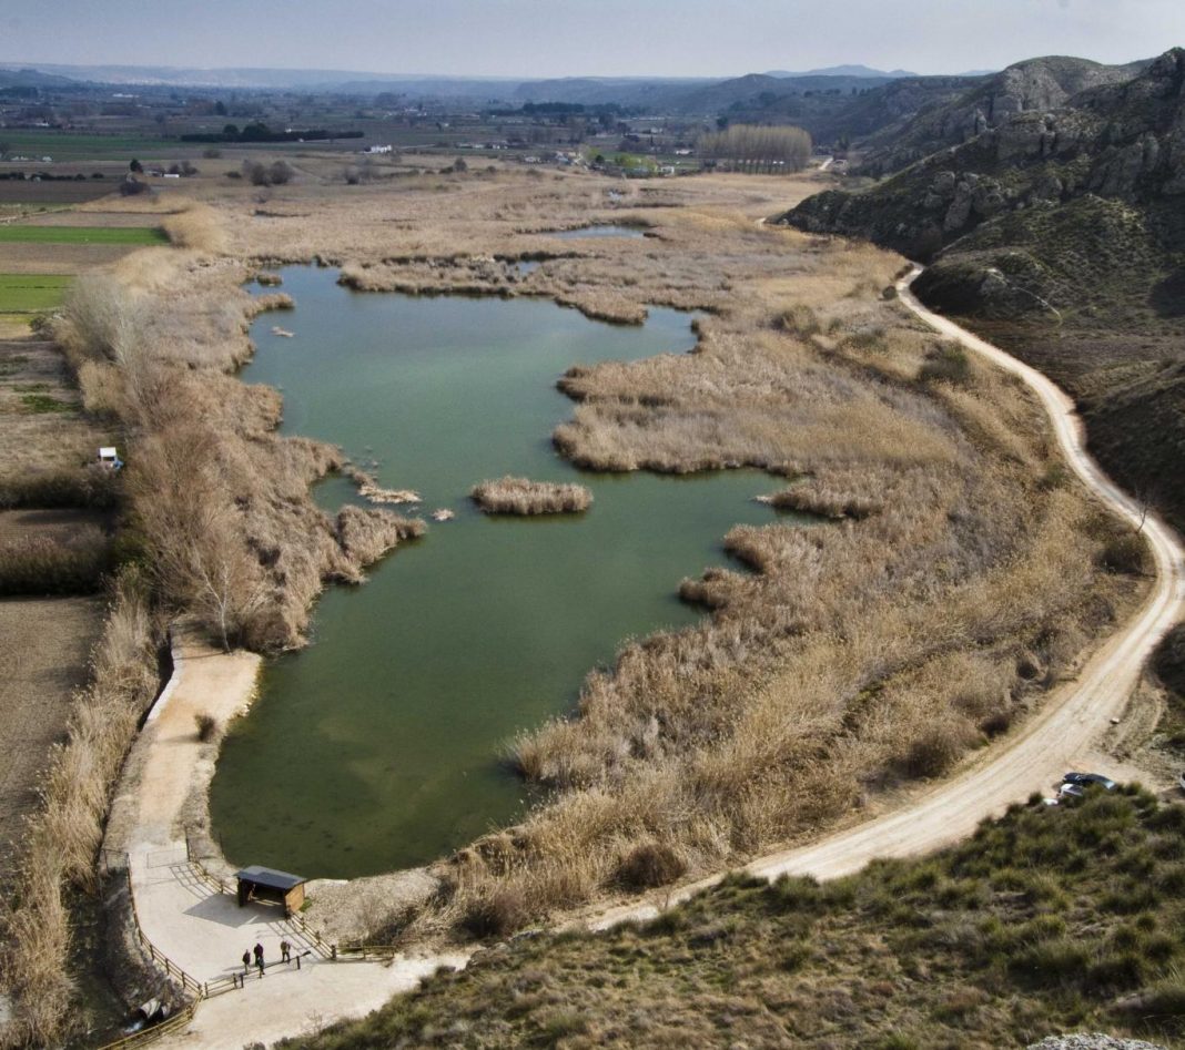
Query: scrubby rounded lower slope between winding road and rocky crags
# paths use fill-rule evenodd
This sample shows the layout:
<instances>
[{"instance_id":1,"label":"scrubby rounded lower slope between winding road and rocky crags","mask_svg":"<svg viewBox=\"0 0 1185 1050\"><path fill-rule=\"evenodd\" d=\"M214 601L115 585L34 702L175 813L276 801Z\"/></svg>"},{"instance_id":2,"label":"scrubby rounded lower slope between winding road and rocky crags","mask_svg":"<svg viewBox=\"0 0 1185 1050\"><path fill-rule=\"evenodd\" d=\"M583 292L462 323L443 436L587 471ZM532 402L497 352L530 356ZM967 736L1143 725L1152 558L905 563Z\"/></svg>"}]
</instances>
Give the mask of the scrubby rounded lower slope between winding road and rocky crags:
<instances>
[{"instance_id":1,"label":"scrubby rounded lower slope between winding road and rocky crags","mask_svg":"<svg viewBox=\"0 0 1185 1050\"><path fill-rule=\"evenodd\" d=\"M1164 210L1095 197L1006 217L943 256L917 291L1064 386L1103 468L1185 528L1174 469L1185 456L1179 225ZM1056 304L1061 317L1014 297L989 309L968 298L987 266Z\"/></svg>"}]
</instances>

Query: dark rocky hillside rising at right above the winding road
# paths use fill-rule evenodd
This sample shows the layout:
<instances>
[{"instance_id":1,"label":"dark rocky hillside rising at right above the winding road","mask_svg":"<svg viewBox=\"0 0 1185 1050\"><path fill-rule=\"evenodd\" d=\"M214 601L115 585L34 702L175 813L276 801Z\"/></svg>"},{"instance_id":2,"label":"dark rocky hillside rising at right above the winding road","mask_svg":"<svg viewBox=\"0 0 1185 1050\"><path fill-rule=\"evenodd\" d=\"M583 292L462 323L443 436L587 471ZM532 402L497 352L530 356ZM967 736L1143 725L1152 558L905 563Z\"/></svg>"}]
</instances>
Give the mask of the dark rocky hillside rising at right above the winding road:
<instances>
[{"instance_id":1,"label":"dark rocky hillside rising at right above the winding road","mask_svg":"<svg viewBox=\"0 0 1185 1050\"><path fill-rule=\"evenodd\" d=\"M1185 527L1185 50L779 221L929 263L923 299L1066 386L1104 465Z\"/></svg>"}]
</instances>

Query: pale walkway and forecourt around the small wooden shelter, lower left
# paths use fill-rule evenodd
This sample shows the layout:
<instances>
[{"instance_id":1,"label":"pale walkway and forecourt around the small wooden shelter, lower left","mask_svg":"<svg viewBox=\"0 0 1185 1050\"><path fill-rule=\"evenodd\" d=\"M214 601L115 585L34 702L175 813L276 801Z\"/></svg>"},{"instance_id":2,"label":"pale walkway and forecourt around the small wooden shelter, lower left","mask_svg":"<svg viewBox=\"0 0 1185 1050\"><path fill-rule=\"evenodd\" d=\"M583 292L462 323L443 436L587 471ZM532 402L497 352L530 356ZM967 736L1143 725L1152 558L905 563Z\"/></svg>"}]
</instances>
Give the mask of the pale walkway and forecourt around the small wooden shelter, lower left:
<instances>
[{"instance_id":1,"label":"pale walkway and forecourt around the small wooden shelter, lower left","mask_svg":"<svg viewBox=\"0 0 1185 1050\"><path fill-rule=\"evenodd\" d=\"M209 745L197 737L196 717L225 723L255 691L258 657L223 653L193 639L174 646L175 671L153 708L141 737L137 819L128 868L140 928L153 947L199 984L242 973L243 952L263 946L264 977L254 968L244 986L205 1000L187 1028L161 1046L228 1048L271 1043L338 1018L357 1017L408 991L438 966L462 966L468 956L401 956L392 962L329 961L286 922L278 908L239 908L219 894L186 856L181 814L192 792L212 773ZM287 939L294 961L280 961ZM300 955L300 968L295 956ZM224 985L224 983L222 983Z\"/></svg>"}]
</instances>

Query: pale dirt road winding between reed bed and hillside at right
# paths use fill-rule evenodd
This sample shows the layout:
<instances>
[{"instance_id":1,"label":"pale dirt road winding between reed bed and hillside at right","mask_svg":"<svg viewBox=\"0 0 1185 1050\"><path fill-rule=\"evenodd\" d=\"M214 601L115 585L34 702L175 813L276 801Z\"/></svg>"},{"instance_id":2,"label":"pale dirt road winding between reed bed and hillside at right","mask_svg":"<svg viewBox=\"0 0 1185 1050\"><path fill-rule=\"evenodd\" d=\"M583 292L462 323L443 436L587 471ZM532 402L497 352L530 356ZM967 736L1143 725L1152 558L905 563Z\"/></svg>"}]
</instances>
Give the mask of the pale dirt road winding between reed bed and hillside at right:
<instances>
[{"instance_id":1,"label":"pale dirt road winding between reed bed and hillside at right","mask_svg":"<svg viewBox=\"0 0 1185 1050\"><path fill-rule=\"evenodd\" d=\"M1133 528L1144 522L1142 533L1155 565L1155 585L1130 621L1098 648L1076 678L1055 689L1017 733L986 748L963 772L901 810L811 845L762 857L744 869L763 878L783 874L837 878L858 871L875 857L929 852L968 837L980 820L999 816L1032 792L1050 792L1062 774L1075 768L1097 743L1110 719L1122 715L1145 661L1185 612L1185 550L1179 539L1152 514L1144 520L1144 509L1087 453L1085 433L1074 401L1036 368L925 309L910 291L921 272L915 268L898 282L901 301L936 331L1011 372L1037 394L1074 472ZM683 888L664 898L662 904L684 900L718 881L713 877ZM629 919L653 916L658 910L653 903L626 904L595 916L590 925L603 929Z\"/></svg>"}]
</instances>

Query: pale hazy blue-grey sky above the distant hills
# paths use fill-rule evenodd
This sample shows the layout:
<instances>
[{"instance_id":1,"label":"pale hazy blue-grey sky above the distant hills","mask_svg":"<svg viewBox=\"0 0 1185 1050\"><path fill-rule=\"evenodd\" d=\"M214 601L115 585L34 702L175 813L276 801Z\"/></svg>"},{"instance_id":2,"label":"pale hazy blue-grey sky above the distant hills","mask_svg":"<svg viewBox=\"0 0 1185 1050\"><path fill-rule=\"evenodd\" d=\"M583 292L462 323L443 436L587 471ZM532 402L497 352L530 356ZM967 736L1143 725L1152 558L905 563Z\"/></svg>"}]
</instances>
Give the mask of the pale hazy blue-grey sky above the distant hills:
<instances>
[{"instance_id":1,"label":"pale hazy blue-grey sky above the distant hills","mask_svg":"<svg viewBox=\"0 0 1185 1050\"><path fill-rule=\"evenodd\" d=\"M2 62L723 77L1173 45L1185 0L0 0Z\"/></svg>"}]
</instances>

